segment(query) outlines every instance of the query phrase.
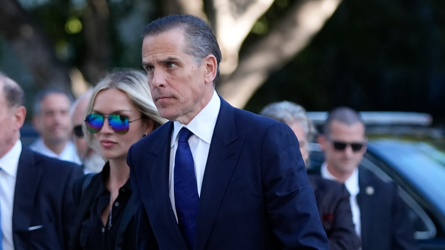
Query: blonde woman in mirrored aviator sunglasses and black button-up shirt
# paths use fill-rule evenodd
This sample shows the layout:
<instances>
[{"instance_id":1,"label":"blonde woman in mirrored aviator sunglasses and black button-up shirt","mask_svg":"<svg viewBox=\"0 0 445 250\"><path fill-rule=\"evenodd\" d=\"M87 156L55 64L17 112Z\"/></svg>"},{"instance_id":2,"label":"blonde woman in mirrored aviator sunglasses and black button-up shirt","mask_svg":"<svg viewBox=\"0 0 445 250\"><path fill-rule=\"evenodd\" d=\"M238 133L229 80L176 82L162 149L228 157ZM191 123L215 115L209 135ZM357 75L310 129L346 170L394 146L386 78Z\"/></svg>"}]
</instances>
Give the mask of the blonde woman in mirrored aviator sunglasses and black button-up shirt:
<instances>
[{"instance_id":1,"label":"blonde woman in mirrored aviator sunglasses and black button-up shirt","mask_svg":"<svg viewBox=\"0 0 445 250\"><path fill-rule=\"evenodd\" d=\"M105 158L101 171L75 187L78 210L71 249L135 249L136 225L129 166L131 145L165 123L153 103L146 75L136 70L106 76L93 90L83 130Z\"/></svg>"}]
</instances>

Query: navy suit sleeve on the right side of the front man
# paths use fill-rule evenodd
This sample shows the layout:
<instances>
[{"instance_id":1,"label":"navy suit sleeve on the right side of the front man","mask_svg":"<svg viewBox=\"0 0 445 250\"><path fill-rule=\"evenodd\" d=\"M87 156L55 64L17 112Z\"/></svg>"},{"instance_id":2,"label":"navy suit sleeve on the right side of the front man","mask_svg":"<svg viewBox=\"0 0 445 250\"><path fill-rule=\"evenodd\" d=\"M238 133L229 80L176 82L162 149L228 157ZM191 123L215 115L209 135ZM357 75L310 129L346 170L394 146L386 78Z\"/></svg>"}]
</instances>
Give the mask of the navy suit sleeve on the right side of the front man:
<instances>
[{"instance_id":1,"label":"navy suit sleeve on the right side of the front man","mask_svg":"<svg viewBox=\"0 0 445 250\"><path fill-rule=\"evenodd\" d=\"M295 134L271 125L261 146L261 172L273 233L283 249L329 249Z\"/></svg>"}]
</instances>

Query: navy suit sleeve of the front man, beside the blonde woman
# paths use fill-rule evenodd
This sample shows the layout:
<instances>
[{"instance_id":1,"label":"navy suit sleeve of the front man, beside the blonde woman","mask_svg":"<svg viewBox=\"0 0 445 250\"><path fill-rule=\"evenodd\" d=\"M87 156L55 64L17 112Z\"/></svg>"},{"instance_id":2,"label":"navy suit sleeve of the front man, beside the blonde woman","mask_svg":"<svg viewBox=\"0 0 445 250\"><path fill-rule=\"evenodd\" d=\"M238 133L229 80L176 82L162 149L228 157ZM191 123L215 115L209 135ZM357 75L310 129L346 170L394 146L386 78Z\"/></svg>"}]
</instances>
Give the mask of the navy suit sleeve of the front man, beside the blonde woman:
<instances>
[{"instance_id":1,"label":"navy suit sleeve of the front man, beside the blonde woman","mask_svg":"<svg viewBox=\"0 0 445 250\"><path fill-rule=\"evenodd\" d=\"M132 147L128 150L127 154L127 164L130 168L133 167L131 152ZM136 249L146 250L146 249L159 249L156 238L154 237L153 230L150 226L150 220L142 204L141 194L139 191L139 185L134 176L134 171L130 171L130 181L131 189L133 191L132 196L134 197L134 208L135 208L135 219L136 219Z\"/></svg>"}]
</instances>

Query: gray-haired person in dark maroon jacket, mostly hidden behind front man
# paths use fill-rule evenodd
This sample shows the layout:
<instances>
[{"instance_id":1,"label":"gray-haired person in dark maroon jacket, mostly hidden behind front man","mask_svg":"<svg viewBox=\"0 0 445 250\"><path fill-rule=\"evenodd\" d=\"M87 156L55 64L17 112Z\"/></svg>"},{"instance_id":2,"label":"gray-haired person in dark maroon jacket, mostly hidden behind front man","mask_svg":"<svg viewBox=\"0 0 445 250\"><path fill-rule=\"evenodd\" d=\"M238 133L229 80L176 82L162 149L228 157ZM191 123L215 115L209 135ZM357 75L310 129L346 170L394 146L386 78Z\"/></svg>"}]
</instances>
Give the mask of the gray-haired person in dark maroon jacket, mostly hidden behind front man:
<instances>
[{"instance_id":1,"label":"gray-haired person in dark maroon jacket, mostly hidden behind front man","mask_svg":"<svg viewBox=\"0 0 445 250\"><path fill-rule=\"evenodd\" d=\"M306 165L309 159L309 141L316 129L306 115L306 110L293 102L281 101L267 105L260 115L274 118L289 125L299 141L300 153ZM299 153L299 152L295 152ZM344 184L308 175L314 189L320 220L328 235L331 250L357 250L360 238L354 231L349 193Z\"/></svg>"}]
</instances>

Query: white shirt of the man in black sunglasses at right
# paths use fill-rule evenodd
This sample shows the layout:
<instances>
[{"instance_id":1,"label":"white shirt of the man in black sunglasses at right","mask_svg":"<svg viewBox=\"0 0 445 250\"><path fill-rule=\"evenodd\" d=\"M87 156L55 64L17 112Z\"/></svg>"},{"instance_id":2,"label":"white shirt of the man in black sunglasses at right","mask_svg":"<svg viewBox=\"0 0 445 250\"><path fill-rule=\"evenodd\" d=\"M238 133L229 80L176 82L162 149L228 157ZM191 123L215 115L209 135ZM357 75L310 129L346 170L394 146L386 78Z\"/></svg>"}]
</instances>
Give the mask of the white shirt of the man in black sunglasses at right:
<instances>
[{"instance_id":1,"label":"white shirt of the man in black sunglasses at right","mask_svg":"<svg viewBox=\"0 0 445 250\"><path fill-rule=\"evenodd\" d=\"M326 162L323 162L321 165L321 177L333 181L338 181L338 179L332 175L331 172L328 170L328 164ZM349 197L349 203L351 204L351 210L352 210L352 222L354 222L354 225L356 226L356 234L358 236L361 235L361 222L360 222L360 207L357 202L357 194L360 192L360 186L359 186L359 169L356 168L352 172L351 176L344 181L344 185L346 186L346 189L348 190L349 194L351 196Z\"/></svg>"}]
</instances>

